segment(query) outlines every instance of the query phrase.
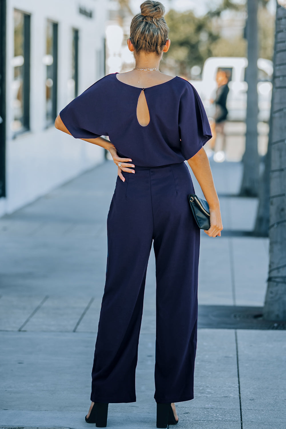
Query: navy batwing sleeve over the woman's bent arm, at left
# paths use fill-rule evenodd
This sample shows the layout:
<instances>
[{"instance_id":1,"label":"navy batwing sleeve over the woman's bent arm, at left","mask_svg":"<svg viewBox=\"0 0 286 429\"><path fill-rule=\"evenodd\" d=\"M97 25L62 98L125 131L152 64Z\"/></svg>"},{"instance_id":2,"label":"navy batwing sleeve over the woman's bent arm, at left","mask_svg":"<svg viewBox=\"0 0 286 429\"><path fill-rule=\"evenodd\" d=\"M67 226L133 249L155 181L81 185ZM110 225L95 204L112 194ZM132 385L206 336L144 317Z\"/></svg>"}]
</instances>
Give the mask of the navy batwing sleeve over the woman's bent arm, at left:
<instances>
[{"instance_id":1,"label":"navy batwing sleeve over the woman's bent arm, at left","mask_svg":"<svg viewBox=\"0 0 286 429\"><path fill-rule=\"evenodd\" d=\"M75 139L108 136L106 94L100 81L95 82L60 111L60 118Z\"/></svg>"}]
</instances>

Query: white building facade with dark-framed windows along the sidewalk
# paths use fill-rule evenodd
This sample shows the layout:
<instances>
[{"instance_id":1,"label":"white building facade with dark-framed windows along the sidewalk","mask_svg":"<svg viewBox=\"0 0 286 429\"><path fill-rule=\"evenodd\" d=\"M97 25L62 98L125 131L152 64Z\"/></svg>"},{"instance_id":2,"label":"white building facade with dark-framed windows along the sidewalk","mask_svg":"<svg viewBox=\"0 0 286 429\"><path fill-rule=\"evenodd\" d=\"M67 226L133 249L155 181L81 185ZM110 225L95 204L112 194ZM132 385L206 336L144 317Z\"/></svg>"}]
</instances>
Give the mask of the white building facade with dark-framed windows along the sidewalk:
<instances>
[{"instance_id":1,"label":"white building facade with dark-framed windows along the sidewalk","mask_svg":"<svg viewBox=\"0 0 286 429\"><path fill-rule=\"evenodd\" d=\"M105 75L107 4L0 0L0 216L104 160L54 120Z\"/></svg>"}]
</instances>

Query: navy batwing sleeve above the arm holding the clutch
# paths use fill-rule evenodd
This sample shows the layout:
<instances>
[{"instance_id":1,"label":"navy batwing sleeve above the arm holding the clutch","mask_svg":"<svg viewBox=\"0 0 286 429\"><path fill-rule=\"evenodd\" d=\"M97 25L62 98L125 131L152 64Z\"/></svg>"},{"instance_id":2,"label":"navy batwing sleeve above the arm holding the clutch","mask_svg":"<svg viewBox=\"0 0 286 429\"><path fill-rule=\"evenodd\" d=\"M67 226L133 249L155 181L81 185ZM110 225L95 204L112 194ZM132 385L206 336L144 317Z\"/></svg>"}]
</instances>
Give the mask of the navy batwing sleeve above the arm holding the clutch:
<instances>
[{"instance_id":1,"label":"navy batwing sleeve above the arm holding the clutch","mask_svg":"<svg viewBox=\"0 0 286 429\"><path fill-rule=\"evenodd\" d=\"M196 155L212 137L211 127L202 100L190 82L187 82L180 98L179 133L181 153L185 160Z\"/></svg>"}]
</instances>

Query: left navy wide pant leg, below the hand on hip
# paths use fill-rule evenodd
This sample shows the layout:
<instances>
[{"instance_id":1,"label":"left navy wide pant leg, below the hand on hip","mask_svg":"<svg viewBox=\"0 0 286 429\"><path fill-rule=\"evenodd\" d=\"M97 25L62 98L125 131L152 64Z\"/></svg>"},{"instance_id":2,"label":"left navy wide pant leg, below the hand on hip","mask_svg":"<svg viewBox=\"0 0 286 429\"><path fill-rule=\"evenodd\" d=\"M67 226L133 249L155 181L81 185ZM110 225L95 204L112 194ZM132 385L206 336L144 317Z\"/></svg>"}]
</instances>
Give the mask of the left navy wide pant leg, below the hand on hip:
<instances>
[{"instance_id":1,"label":"left navy wide pant leg, below the hand on hip","mask_svg":"<svg viewBox=\"0 0 286 429\"><path fill-rule=\"evenodd\" d=\"M107 218L108 257L92 369L93 402L136 401L135 368L153 215L147 172L123 175L125 182L117 178Z\"/></svg>"}]
</instances>

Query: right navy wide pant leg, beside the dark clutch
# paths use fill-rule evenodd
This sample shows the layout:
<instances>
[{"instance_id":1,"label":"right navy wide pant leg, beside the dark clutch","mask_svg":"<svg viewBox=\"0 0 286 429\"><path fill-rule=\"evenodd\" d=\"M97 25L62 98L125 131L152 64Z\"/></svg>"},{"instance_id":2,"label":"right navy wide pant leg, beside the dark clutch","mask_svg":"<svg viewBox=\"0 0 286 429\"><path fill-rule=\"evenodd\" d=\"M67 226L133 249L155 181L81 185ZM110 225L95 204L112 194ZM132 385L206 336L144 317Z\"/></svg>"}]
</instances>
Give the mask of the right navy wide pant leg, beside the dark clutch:
<instances>
[{"instance_id":1,"label":"right navy wide pant leg, beside the dark clutch","mask_svg":"<svg viewBox=\"0 0 286 429\"><path fill-rule=\"evenodd\" d=\"M154 398L181 402L194 397L200 230L188 202L194 188L187 166L151 170L151 175L157 280Z\"/></svg>"}]
</instances>

